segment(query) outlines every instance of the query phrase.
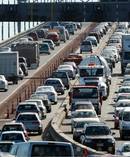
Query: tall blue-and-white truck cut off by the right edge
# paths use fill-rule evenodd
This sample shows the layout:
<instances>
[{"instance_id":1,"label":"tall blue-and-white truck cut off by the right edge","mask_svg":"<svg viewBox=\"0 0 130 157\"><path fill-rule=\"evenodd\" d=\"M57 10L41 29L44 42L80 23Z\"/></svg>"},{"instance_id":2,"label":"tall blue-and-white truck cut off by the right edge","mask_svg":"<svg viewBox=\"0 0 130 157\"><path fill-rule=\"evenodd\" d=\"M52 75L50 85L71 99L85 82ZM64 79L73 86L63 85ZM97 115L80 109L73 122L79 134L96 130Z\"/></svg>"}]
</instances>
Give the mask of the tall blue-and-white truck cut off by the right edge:
<instances>
[{"instance_id":1,"label":"tall blue-and-white truck cut off by the right edge","mask_svg":"<svg viewBox=\"0 0 130 157\"><path fill-rule=\"evenodd\" d=\"M130 34L122 35L121 72L124 74L127 64L130 63Z\"/></svg>"}]
</instances>

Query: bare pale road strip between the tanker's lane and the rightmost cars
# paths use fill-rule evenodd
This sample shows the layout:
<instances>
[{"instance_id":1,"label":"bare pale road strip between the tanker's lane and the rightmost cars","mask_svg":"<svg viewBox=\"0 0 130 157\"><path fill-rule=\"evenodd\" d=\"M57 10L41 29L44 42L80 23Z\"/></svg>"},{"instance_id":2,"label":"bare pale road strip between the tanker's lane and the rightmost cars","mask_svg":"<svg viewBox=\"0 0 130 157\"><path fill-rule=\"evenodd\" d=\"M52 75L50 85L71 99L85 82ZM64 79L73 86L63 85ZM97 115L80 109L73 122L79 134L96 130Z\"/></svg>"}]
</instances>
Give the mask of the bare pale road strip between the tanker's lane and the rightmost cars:
<instances>
[{"instance_id":1,"label":"bare pale road strip between the tanker's lane and the rightmost cars","mask_svg":"<svg viewBox=\"0 0 130 157\"><path fill-rule=\"evenodd\" d=\"M103 102L102 106L102 114L101 114L101 121L107 123L107 125L111 128L112 132L115 133L114 137L116 140L116 148L122 145L125 140L120 139L119 129L114 129L114 98L116 97L115 91L118 90L119 85L123 76L121 76L121 67L120 62L116 64L116 67L112 74L112 84L110 86L110 95L109 98Z\"/></svg>"}]
</instances>

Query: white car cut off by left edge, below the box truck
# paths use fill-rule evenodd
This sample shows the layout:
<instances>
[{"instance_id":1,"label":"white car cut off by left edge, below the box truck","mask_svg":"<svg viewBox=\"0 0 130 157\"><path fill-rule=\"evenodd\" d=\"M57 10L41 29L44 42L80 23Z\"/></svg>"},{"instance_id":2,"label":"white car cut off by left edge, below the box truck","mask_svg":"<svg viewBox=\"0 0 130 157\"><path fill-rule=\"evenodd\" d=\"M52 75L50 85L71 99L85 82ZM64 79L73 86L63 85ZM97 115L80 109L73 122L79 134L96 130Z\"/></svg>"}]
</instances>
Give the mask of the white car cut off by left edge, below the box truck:
<instances>
[{"instance_id":1,"label":"white car cut off by left edge, below the box truck","mask_svg":"<svg viewBox=\"0 0 130 157\"><path fill-rule=\"evenodd\" d=\"M5 92L8 90L8 81L4 75L0 75L0 90L4 90Z\"/></svg>"}]
</instances>

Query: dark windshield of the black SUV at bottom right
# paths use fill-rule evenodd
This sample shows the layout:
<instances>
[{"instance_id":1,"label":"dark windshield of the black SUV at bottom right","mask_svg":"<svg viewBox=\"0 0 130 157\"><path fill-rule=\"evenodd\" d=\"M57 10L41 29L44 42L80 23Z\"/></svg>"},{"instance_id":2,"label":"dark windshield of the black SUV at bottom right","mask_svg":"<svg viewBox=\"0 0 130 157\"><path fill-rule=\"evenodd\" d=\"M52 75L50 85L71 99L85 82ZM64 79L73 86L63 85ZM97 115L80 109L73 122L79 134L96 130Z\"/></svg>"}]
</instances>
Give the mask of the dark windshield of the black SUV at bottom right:
<instances>
[{"instance_id":1,"label":"dark windshield of the black SUV at bottom right","mask_svg":"<svg viewBox=\"0 0 130 157\"><path fill-rule=\"evenodd\" d=\"M89 126L85 130L85 134L87 136L93 136L93 135L110 135L111 131L106 126Z\"/></svg>"}]
</instances>

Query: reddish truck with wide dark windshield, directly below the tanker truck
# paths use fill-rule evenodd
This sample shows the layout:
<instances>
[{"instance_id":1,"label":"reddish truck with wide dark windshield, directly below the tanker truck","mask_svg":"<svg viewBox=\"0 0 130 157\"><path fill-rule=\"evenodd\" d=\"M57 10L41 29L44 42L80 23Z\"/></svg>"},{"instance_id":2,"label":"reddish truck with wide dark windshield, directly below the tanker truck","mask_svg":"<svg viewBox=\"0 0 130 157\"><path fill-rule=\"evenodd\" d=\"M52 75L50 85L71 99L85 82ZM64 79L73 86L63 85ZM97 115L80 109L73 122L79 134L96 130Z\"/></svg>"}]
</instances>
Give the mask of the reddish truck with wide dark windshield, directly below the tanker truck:
<instances>
[{"instance_id":1,"label":"reddish truck with wide dark windshield, directly below the tanker truck","mask_svg":"<svg viewBox=\"0 0 130 157\"><path fill-rule=\"evenodd\" d=\"M101 114L102 95L97 86L76 85L69 92L69 103L77 101L91 101L98 115Z\"/></svg>"}]
</instances>

